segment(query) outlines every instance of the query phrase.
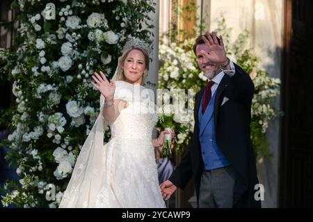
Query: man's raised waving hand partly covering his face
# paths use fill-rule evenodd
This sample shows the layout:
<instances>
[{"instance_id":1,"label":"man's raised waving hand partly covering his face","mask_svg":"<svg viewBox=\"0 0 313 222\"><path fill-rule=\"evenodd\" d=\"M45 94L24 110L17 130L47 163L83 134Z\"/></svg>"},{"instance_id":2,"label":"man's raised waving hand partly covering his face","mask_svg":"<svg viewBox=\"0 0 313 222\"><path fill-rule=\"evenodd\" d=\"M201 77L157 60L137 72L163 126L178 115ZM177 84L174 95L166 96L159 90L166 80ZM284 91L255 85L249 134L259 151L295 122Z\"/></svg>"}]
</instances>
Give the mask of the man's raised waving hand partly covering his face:
<instances>
[{"instance_id":1,"label":"man's raised waving hand partly covering his face","mask_svg":"<svg viewBox=\"0 0 313 222\"><path fill-rule=\"evenodd\" d=\"M218 63L219 65L226 66L228 62L228 58L226 56L226 51L224 47L223 38L220 35L220 44L218 44L218 39L216 38L216 32L212 32L211 34L206 32L207 38L202 36L202 40L205 45L209 47L209 52L204 50L200 51L202 56L206 57L212 63Z\"/></svg>"}]
</instances>

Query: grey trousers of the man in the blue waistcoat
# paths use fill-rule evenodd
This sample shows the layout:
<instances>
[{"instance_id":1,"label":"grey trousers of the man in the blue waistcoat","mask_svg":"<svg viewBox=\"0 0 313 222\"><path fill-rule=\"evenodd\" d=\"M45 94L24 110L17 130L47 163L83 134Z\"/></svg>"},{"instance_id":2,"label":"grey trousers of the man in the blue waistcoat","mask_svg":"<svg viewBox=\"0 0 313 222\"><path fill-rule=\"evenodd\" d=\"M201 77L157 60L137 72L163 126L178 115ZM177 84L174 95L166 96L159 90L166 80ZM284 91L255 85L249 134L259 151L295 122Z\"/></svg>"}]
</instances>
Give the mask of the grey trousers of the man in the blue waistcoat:
<instances>
[{"instance_id":1,"label":"grey trousers of the man in the blue waistcoat","mask_svg":"<svg viewBox=\"0 0 313 222\"><path fill-rule=\"evenodd\" d=\"M199 207L233 207L235 180L236 176L232 166L202 171Z\"/></svg>"}]
</instances>

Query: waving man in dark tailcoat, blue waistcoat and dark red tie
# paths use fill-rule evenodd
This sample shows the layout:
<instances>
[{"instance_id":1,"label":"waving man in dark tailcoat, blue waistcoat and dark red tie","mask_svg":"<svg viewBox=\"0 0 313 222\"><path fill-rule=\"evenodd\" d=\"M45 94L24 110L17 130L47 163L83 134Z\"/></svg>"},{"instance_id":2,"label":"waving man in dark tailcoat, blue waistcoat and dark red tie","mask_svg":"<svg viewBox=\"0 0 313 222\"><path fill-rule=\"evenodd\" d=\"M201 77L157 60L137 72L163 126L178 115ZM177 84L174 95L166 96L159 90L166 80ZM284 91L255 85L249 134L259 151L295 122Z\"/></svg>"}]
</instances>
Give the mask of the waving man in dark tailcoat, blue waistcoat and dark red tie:
<instances>
[{"instance_id":1,"label":"waving man in dark tailcoat, blue waistcoat and dark red tie","mask_svg":"<svg viewBox=\"0 0 313 222\"><path fill-rule=\"evenodd\" d=\"M160 187L168 200L177 187L195 178L198 207L261 207L250 142L250 110L254 84L227 58L223 38L200 35L193 51L205 88L195 95L195 128L182 162Z\"/></svg>"}]
</instances>

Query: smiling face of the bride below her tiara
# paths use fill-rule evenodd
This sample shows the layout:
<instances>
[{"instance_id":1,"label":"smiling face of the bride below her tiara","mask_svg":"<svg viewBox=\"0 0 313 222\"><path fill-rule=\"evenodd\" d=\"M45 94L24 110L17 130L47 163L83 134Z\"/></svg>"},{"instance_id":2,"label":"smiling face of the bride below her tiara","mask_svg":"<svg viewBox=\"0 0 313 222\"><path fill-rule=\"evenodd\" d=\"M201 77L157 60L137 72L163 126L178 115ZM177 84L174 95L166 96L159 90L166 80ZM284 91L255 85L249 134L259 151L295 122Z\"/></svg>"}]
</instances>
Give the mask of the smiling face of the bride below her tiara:
<instances>
[{"instance_id":1,"label":"smiling face of the bride below her tiara","mask_svg":"<svg viewBox=\"0 0 313 222\"><path fill-rule=\"evenodd\" d=\"M130 84L141 84L145 72L145 56L143 53L138 49L129 51L123 69L125 81Z\"/></svg>"}]
</instances>

